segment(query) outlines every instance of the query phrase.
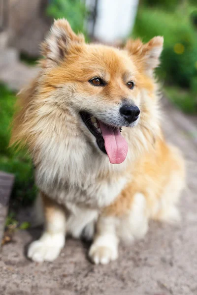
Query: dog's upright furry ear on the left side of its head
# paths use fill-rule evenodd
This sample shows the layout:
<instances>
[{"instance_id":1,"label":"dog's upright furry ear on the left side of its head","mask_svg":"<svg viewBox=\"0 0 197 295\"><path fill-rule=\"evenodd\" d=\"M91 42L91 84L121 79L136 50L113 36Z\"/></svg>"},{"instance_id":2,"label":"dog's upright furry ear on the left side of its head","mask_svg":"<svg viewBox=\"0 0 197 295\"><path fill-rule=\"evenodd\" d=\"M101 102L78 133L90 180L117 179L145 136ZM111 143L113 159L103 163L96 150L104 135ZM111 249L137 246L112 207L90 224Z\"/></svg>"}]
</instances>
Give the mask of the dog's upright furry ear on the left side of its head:
<instances>
[{"instance_id":1,"label":"dog's upright furry ear on the left side of its head","mask_svg":"<svg viewBox=\"0 0 197 295\"><path fill-rule=\"evenodd\" d=\"M84 42L82 34L76 35L66 19L54 21L46 40L42 44L42 67L53 67L66 59L72 45Z\"/></svg>"}]
</instances>

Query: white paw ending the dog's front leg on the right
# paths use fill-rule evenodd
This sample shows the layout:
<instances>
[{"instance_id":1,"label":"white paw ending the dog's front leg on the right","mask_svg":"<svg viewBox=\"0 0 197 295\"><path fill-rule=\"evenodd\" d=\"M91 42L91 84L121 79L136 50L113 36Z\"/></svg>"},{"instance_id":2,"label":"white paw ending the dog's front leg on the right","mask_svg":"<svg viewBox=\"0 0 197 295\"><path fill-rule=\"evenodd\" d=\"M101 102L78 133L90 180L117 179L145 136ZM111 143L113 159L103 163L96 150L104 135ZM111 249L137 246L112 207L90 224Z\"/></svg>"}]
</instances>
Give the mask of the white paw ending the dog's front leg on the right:
<instances>
[{"instance_id":1,"label":"white paw ending the dog's front leg on the right","mask_svg":"<svg viewBox=\"0 0 197 295\"><path fill-rule=\"evenodd\" d=\"M95 264L105 265L118 258L118 249L117 247L93 244L90 248L89 256Z\"/></svg>"}]
</instances>

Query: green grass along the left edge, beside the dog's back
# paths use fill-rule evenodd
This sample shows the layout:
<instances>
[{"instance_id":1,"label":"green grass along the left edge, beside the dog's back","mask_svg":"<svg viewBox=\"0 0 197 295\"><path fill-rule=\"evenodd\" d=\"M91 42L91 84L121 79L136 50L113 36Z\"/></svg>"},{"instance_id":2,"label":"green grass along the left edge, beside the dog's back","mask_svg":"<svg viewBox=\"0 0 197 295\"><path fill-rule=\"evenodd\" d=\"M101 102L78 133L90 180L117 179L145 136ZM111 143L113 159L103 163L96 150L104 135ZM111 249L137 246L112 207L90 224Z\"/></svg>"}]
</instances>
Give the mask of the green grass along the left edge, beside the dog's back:
<instances>
[{"instance_id":1,"label":"green grass along the left edge, beside the dog's back","mask_svg":"<svg viewBox=\"0 0 197 295\"><path fill-rule=\"evenodd\" d=\"M0 170L15 175L11 196L11 206L28 205L35 197L33 184L33 165L27 151L15 152L8 148L10 139L10 122L14 114L16 96L0 85Z\"/></svg>"}]
</instances>

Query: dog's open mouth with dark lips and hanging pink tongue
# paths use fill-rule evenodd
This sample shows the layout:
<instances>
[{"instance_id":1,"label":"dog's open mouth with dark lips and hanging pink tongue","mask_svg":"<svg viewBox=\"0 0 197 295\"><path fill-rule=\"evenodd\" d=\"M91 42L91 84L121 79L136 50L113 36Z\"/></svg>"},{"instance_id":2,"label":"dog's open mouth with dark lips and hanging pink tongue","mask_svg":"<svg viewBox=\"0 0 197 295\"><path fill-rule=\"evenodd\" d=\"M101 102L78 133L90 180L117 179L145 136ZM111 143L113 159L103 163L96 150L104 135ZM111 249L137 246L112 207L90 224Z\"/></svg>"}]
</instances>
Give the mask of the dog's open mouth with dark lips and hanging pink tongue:
<instances>
[{"instance_id":1,"label":"dog's open mouth with dark lips and hanging pink tongue","mask_svg":"<svg viewBox=\"0 0 197 295\"><path fill-rule=\"evenodd\" d=\"M110 163L124 162L128 152L128 144L121 135L121 127L108 126L88 112L80 112L80 116L89 131L95 136L99 149L108 155Z\"/></svg>"}]
</instances>

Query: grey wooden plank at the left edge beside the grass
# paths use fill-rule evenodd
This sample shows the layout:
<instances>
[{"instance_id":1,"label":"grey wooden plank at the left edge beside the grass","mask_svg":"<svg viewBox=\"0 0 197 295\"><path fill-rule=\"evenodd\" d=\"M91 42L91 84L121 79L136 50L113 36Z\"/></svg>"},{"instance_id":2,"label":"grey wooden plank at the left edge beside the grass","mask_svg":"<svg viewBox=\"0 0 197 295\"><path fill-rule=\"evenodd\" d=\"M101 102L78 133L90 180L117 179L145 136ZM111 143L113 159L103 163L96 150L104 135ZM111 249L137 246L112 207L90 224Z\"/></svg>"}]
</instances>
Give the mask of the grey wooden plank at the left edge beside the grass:
<instances>
[{"instance_id":1,"label":"grey wooden plank at the left edge beside the grass","mask_svg":"<svg viewBox=\"0 0 197 295\"><path fill-rule=\"evenodd\" d=\"M0 171L0 243L3 236L9 197L14 183L14 175Z\"/></svg>"}]
</instances>

